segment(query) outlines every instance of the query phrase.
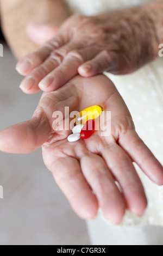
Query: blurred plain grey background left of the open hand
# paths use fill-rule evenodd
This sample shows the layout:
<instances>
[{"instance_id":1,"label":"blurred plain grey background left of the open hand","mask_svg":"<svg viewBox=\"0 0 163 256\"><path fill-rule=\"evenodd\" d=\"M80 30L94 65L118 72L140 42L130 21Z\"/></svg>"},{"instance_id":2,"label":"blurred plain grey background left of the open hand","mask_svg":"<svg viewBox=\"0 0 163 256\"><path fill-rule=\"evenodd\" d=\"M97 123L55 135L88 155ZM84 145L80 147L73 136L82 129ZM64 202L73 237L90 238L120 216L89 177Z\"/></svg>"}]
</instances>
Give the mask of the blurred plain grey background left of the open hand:
<instances>
[{"instance_id":1,"label":"blurred plain grey background left of the open hand","mask_svg":"<svg viewBox=\"0 0 163 256\"><path fill-rule=\"evenodd\" d=\"M18 88L22 77L2 39L1 34L0 130L30 119L41 96L23 94ZM0 185L0 245L89 245L86 224L55 184L41 149L29 155L0 152Z\"/></svg>"}]
</instances>

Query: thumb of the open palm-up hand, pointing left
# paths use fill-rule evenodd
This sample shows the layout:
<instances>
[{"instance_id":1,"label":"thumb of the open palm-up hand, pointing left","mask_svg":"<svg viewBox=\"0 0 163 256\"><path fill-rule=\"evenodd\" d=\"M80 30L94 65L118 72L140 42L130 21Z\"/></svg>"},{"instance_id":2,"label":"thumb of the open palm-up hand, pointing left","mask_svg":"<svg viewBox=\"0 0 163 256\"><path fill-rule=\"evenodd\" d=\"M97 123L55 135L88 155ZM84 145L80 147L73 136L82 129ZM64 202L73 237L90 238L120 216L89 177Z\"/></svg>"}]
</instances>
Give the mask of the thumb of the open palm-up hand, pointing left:
<instances>
[{"instance_id":1,"label":"thumb of the open palm-up hand, pointing left","mask_svg":"<svg viewBox=\"0 0 163 256\"><path fill-rule=\"evenodd\" d=\"M0 132L0 150L6 153L27 154L38 149L51 135L46 114Z\"/></svg>"}]
</instances>

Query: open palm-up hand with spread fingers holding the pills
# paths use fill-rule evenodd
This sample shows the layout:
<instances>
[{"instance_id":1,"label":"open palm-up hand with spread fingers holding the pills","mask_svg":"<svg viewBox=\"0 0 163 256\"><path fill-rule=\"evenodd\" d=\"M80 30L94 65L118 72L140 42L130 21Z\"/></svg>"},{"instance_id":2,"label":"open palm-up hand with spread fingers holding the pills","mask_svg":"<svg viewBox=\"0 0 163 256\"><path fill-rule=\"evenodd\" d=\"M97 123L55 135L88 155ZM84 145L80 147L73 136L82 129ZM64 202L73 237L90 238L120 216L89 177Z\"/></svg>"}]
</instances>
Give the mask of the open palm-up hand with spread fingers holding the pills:
<instances>
[{"instance_id":1,"label":"open palm-up hand with spread fingers holding the pills","mask_svg":"<svg viewBox=\"0 0 163 256\"><path fill-rule=\"evenodd\" d=\"M72 112L92 105L111 111L109 136L96 131L89 139L70 143L70 131L54 132L54 111L64 114L65 106ZM82 218L95 217L98 208L115 223L122 221L126 209L143 214L147 200L133 161L156 184L163 184L161 164L137 135L114 84L103 75L77 76L56 92L43 93L30 121L0 132L0 150L8 153L30 153L41 145L47 168Z\"/></svg>"}]
</instances>

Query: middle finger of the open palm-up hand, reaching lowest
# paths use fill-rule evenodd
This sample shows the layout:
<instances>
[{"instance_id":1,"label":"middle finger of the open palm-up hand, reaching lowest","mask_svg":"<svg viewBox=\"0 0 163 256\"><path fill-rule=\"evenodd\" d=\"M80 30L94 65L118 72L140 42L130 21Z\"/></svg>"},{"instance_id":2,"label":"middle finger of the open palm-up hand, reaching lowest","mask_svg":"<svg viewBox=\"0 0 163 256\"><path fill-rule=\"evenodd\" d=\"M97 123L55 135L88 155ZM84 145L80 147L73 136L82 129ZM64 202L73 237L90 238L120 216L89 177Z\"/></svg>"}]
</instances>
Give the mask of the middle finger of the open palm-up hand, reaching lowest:
<instances>
[{"instance_id":1,"label":"middle finger of the open palm-up hand, reaching lowest","mask_svg":"<svg viewBox=\"0 0 163 256\"><path fill-rule=\"evenodd\" d=\"M88 155L82 158L80 164L87 182L96 194L104 217L120 224L126 205L104 160L97 155Z\"/></svg>"}]
</instances>

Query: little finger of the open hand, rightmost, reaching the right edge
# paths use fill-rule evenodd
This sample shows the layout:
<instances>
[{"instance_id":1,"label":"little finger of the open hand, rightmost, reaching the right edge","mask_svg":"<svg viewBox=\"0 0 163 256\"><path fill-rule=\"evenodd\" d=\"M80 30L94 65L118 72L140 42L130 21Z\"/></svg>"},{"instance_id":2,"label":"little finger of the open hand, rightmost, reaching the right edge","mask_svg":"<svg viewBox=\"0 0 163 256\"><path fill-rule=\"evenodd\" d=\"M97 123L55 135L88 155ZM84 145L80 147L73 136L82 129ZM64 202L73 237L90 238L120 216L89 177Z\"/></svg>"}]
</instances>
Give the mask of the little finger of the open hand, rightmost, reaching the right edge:
<instances>
[{"instance_id":1,"label":"little finger of the open hand, rightmost, reaching the right edge","mask_svg":"<svg viewBox=\"0 0 163 256\"><path fill-rule=\"evenodd\" d=\"M121 147L136 162L143 172L158 185L163 185L163 168L152 152L133 130L122 134L119 139Z\"/></svg>"}]
</instances>

